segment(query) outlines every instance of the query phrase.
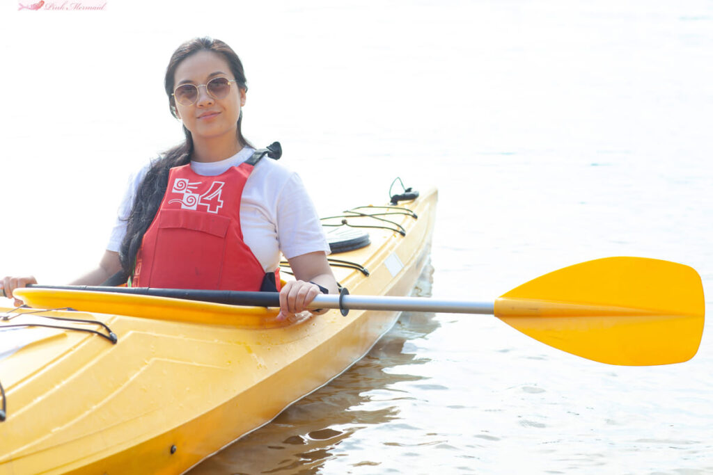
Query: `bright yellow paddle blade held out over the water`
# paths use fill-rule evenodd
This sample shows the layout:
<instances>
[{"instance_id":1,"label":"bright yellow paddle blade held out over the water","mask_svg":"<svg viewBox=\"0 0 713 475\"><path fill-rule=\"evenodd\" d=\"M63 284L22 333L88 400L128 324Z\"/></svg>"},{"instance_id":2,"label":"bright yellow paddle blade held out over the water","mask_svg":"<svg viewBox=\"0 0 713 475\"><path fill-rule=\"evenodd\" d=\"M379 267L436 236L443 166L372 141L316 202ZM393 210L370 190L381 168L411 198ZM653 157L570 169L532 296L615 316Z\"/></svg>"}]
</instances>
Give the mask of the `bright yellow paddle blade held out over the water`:
<instances>
[{"instance_id":1,"label":"bright yellow paddle blade held out over the water","mask_svg":"<svg viewBox=\"0 0 713 475\"><path fill-rule=\"evenodd\" d=\"M703 333L698 273L679 263L610 257L513 288L495 315L535 340L610 365L690 360Z\"/></svg>"}]
</instances>

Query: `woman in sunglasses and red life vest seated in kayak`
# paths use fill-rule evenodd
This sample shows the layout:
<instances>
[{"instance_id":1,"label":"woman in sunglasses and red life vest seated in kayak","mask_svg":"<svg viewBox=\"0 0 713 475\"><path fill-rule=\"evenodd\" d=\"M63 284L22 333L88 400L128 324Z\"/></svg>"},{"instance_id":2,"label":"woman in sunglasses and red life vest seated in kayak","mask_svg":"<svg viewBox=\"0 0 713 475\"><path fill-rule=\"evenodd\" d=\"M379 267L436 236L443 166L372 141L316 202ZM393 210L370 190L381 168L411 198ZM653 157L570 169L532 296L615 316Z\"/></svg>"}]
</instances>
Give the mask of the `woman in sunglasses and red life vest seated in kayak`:
<instances>
[{"instance_id":1,"label":"woman in sunglasses and red life vest seated in kayak","mask_svg":"<svg viewBox=\"0 0 713 475\"><path fill-rule=\"evenodd\" d=\"M165 75L185 142L132 180L107 250L76 285L116 273L133 286L279 290L279 319L336 293L329 246L297 174L241 132L247 85L240 58L219 40L196 38L173 53ZM279 288L280 252L295 281ZM6 277L6 296L36 283Z\"/></svg>"}]
</instances>

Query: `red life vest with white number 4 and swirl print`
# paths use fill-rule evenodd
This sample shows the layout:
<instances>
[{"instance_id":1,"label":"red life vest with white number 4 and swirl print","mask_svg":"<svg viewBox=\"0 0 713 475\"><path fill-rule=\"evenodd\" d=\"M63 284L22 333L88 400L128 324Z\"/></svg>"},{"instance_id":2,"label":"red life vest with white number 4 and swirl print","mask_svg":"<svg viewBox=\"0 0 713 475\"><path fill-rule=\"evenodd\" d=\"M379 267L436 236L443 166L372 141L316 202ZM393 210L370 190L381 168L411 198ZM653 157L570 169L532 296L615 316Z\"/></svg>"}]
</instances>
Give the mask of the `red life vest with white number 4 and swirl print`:
<instances>
[{"instance_id":1,"label":"red life vest with white number 4 and swirl print","mask_svg":"<svg viewBox=\"0 0 713 475\"><path fill-rule=\"evenodd\" d=\"M196 174L190 165L170 169L163 201L136 254L132 286L261 290L265 271L240 229L251 162L257 160L215 177ZM279 277L275 281L279 290Z\"/></svg>"}]
</instances>

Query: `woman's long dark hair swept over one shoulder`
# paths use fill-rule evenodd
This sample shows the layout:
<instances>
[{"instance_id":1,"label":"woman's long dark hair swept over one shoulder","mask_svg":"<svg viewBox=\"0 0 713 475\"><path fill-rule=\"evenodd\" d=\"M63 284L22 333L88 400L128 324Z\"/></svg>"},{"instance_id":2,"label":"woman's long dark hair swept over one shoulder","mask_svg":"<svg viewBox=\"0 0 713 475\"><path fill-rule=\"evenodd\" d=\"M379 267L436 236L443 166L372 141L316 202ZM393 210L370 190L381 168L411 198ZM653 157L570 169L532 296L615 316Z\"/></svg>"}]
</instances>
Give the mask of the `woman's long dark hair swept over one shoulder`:
<instances>
[{"instance_id":1,"label":"woman's long dark hair swept over one shoulder","mask_svg":"<svg viewBox=\"0 0 713 475\"><path fill-rule=\"evenodd\" d=\"M245 79L245 72L242 69L242 63L230 46L213 38L193 38L183 43L173 52L173 56L171 56L168 62L168 68L166 68L166 75L163 81L166 95L168 95L168 105L171 114L175 118L178 118L175 101L173 99L176 68L178 68L178 65L180 65L185 58L198 53L198 51L213 51L214 53L222 55L228 65L230 65L230 72L235 77L238 87L247 91L247 80ZM240 143L242 147L255 148L242 136L241 122L242 110L240 117L237 119L238 143ZM138 249L141 246L143 235L155 218L156 212L158 212L158 207L160 207L161 200L168 186L168 171L173 167L187 165L193 156L193 137L185 126L183 127L183 133L185 134L185 142L167 150L158 160L155 160L136 190L133 207L131 208L126 223L126 234L119 249L119 259L126 276L130 276L133 272L134 261Z\"/></svg>"}]
</instances>

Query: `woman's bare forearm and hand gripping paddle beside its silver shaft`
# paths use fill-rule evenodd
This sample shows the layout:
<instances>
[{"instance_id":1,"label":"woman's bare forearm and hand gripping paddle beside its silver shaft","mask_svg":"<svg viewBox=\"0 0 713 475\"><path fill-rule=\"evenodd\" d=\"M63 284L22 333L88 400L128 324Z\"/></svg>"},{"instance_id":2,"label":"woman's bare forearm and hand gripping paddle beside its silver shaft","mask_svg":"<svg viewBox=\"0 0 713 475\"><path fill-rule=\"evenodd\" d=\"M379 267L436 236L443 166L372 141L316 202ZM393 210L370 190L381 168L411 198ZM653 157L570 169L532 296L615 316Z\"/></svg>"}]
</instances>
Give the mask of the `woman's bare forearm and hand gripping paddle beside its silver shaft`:
<instances>
[{"instance_id":1,"label":"woman's bare forearm and hand gripping paddle beside its silver shaft","mask_svg":"<svg viewBox=\"0 0 713 475\"><path fill-rule=\"evenodd\" d=\"M337 280L327 262L327 254L323 251L302 254L287 261L296 280L287 282L279 292L280 310L277 320L284 320L307 310L314 297L322 293L315 284L327 288L329 293L338 292Z\"/></svg>"}]
</instances>

